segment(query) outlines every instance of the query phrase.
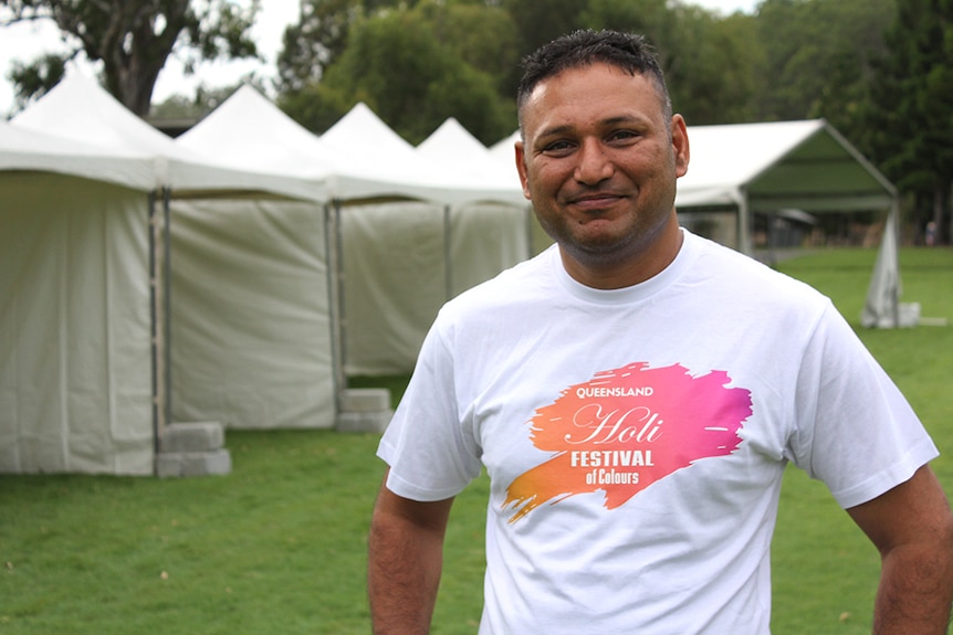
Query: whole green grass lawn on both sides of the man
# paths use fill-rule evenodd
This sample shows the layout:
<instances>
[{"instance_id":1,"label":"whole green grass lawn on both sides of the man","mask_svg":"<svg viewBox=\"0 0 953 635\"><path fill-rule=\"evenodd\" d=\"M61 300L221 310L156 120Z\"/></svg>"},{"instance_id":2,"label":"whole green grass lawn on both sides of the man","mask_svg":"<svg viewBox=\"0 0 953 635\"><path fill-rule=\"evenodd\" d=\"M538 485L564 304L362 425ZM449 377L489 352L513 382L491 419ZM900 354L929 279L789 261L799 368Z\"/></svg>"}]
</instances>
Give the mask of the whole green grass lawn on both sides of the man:
<instances>
[{"instance_id":1,"label":"whole green grass lawn on both sides of the man","mask_svg":"<svg viewBox=\"0 0 953 635\"><path fill-rule=\"evenodd\" d=\"M855 325L876 252L782 267ZM901 253L904 300L953 319L953 251ZM859 328L859 327L858 327ZM861 330L944 456L953 491L953 327ZM405 378L374 380L399 394ZM376 435L228 433L232 474L158 480L0 476L0 634L367 634ZM436 635L475 633L488 483L454 505ZM824 486L789 469L773 548L777 635L870 632L879 562Z\"/></svg>"}]
</instances>

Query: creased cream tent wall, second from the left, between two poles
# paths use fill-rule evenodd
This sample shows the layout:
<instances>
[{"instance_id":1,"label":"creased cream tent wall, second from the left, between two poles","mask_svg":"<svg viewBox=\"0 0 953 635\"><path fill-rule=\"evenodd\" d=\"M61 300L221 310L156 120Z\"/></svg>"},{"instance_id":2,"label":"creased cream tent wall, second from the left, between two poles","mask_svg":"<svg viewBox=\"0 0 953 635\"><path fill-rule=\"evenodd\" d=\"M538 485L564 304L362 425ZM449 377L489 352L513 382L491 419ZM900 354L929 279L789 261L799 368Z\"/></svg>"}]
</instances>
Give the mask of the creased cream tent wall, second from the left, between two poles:
<instances>
[{"instance_id":1,"label":"creased cream tent wall, second from the left, between two poles","mask_svg":"<svg viewBox=\"0 0 953 635\"><path fill-rule=\"evenodd\" d=\"M315 203L172 201L172 421L334 425L325 233Z\"/></svg>"}]
</instances>

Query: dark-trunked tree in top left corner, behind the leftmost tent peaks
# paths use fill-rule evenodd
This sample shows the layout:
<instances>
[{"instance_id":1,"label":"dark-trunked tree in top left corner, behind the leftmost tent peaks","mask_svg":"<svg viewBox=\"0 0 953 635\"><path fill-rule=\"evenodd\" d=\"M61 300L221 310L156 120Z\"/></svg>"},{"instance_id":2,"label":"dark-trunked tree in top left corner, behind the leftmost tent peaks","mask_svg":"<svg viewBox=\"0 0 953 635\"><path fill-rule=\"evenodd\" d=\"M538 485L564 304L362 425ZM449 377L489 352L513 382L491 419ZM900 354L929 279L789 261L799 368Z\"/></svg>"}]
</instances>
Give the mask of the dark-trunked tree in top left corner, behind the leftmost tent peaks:
<instances>
[{"instance_id":1,"label":"dark-trunked tree in top left corner, behind the leftmost tent peaks","mask_svg":"<svg viewBox=\"0 0 953 635\"><path fill-rule=\"evenodd\" d=\"M102 62L106 88L139 116L149 113L153 88L169 55L181 44L186 68L200 60L255 56L249 32L260 0L245 10L228 0L0 0L13 21L53 20L73 50L17 65L10 80L20 103L51 88L65 60L81 52Z\"/></svg>"}]
</instances>

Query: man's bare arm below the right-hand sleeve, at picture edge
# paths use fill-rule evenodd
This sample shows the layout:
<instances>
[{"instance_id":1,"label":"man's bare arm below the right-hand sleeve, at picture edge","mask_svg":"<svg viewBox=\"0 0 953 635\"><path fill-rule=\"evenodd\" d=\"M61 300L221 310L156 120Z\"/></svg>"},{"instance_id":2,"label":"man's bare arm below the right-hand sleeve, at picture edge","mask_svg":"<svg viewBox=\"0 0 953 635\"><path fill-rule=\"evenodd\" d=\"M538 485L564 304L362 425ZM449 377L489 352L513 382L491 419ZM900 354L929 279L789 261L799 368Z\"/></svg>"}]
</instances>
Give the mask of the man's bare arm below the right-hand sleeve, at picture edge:
<instances>
[{"instance_id":1,"label":"man's bare arm below the right-hand sleeve, at picture edge","mask_svg":"<svg viewBox=\"0 0 953 635\"><path fill-rule=\"evenodd\" d=\"M875 635L946 633L953 601L953 515L936 476L910 480L847 512L880 551Z\"/></svg>"}]
</instances>

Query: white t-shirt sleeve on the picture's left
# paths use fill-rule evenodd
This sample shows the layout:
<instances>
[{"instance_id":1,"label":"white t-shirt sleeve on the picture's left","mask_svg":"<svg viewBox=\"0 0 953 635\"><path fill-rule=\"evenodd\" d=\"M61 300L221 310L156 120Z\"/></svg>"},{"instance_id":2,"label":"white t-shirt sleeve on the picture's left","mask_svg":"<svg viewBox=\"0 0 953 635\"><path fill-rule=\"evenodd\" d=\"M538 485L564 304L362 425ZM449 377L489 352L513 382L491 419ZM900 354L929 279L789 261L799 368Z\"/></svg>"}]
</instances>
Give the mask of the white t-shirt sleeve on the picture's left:
<instances>
[{"instance_id":1,"label":"white t-shirt sleeve on the picture's left","mask_svg":"<svg viewBox=\"0 0 953 635\"><path fill-rule=\"evenodd\" d=\"M388 489L421 501L460 494L482 468L472 430L461 421L453 358L439 320L423 341L407 391L377 449L390 466Z\"/></svg>"}]
</instances>

